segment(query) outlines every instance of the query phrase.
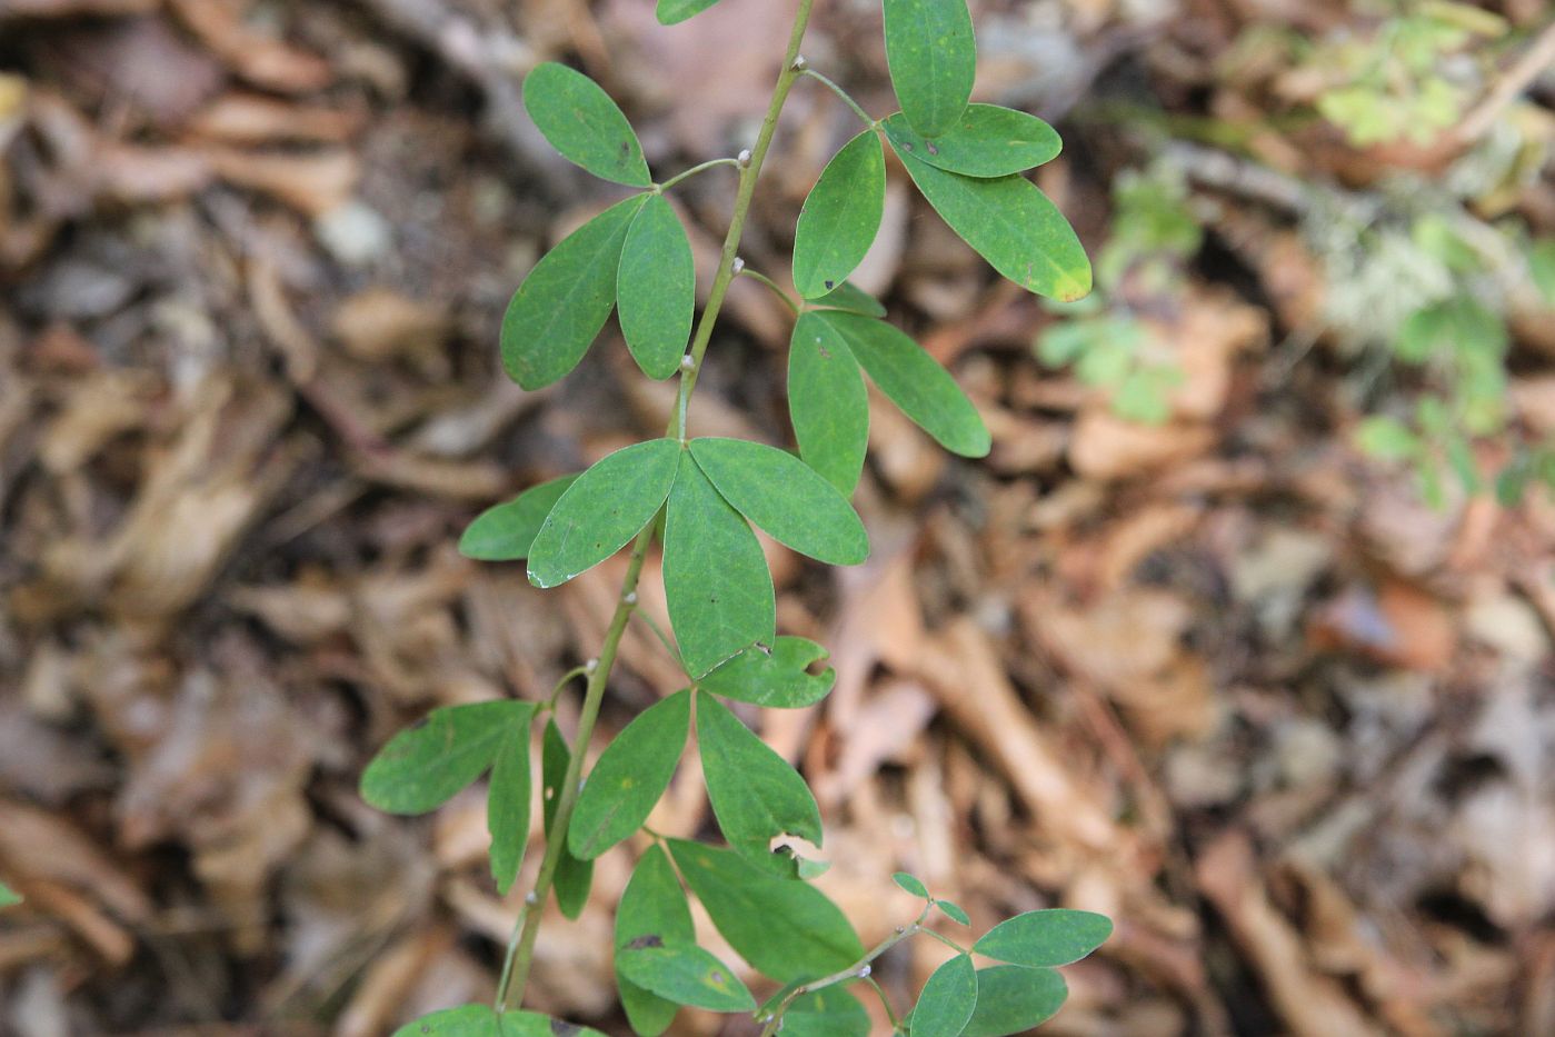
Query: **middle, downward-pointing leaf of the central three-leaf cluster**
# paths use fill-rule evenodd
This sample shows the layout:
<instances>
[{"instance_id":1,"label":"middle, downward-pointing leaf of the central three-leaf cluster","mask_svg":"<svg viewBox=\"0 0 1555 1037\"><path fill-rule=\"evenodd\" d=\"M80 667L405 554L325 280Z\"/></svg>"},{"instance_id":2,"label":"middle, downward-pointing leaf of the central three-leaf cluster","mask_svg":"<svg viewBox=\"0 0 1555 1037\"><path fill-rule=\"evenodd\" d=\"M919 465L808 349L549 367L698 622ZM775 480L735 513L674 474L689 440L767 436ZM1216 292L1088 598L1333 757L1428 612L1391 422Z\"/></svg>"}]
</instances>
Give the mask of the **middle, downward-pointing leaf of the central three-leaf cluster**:
<instances>
[{"instance_id":1,"label":"middle, downward-pointing leaf of the central three-leaf cluster","mask_svg":"<svg viewBox=\"0 0 1555 1037\"><path fill-rule=\"evenodd\" d=\"M664 597L692 679L778 630L762 546L689 452L664 519Z\"/></svg>"}]
</instances>

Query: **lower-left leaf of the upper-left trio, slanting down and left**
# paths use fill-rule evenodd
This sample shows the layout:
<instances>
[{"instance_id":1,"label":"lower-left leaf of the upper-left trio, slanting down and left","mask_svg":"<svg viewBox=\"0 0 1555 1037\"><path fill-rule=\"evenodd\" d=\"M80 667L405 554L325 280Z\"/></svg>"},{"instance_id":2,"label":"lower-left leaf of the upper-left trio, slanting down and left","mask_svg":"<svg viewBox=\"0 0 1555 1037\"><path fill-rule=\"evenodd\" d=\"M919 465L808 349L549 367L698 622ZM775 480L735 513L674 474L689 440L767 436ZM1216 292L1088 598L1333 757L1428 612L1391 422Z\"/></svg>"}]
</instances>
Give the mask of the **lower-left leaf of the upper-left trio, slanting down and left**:
<instances>
[{"instance_id":1,"label":"lower-left leaf of the upper-left trio, slanting down and left","mask_svg":"<svg viewBox=\"0 0 1555 1037\"><path fill-rule=\"evenodd\" d=\"M502 314L502 367L524 389L566 378L616 308L627 229L645 196L616 202L541 257Z\"/></svg>"}]
</instances>

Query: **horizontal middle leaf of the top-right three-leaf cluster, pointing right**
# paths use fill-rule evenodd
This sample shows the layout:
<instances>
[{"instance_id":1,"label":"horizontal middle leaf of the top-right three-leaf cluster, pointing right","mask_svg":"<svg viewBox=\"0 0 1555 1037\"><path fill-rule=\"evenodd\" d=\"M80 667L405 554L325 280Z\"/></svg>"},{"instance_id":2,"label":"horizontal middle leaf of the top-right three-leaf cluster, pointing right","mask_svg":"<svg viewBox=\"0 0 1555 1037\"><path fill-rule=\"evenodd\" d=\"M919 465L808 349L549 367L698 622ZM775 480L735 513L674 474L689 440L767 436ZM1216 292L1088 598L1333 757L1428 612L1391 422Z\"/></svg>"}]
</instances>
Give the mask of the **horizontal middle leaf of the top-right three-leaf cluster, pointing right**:
<instances>
[{"instance_id":1,"label":"horizontal middle leaf of the top-right three-leaf cluster, pointing right","mask_svg":"<svg viewBox=\"0 0 1555 1037\"><path fill-rule=\"evenodd\" d=\"M1053 162L1064 140L1036 115L997 104L970 104L955 126L930 140L902 112L882 123L891 146L961 176L1000 177Z\"/></svg>"}]
</instances>

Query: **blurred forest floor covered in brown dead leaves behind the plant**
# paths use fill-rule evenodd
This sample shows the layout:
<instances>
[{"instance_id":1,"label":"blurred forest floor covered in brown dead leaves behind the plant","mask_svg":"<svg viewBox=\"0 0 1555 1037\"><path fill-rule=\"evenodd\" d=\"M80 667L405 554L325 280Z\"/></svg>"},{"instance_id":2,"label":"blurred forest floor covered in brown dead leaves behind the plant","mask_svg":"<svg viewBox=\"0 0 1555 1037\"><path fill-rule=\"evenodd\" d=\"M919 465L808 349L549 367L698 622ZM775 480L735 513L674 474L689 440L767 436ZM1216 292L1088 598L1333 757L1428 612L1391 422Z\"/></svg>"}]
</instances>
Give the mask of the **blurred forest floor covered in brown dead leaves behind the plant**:
<instances>
[{"instance_id":1,"label":"blurred forest floor covered in brown dead leaves behind the plant","mask_svg":"<svg viewBox=\"0 0 1555 1037\"><path fill-rule=\"evenodd\" d=\"M914 910L897 869L980 927L1112 916L1067 970L1061 1037L1555 1034L1555 498L1426 504L1354 446L1409 379L1330 326L1347 286L1306 211L1451 149L1288 126L1292 70L1227 72L1255 30L1344 30L1340 3L973 6L978 96L1064 131L1037 182L1092 252L1151 163L1191 185L1204 241L1132 309L1179 368L1168 420L1134 423L1037 359L1059 317L891 169L857 281L950 365L994 452L947 457L877 407L869 563L771 549L781 627L838 673L812 711L750 717L816 790L821 886L866 944ZM393 819L356 776L426 709L538 698L596 651L619 564L540 592L454 541L662 428L673 392L614 326L554 389L501 375L513 288L614 197L549 152L516 84L578 64L673 171L748 145L790 14L0 0L0 877L26 899L0 919L0 1034L369 1037L490 997L527 883L494 896L480 798ZM879 17L819 3L805 54L885 113ZM753 267L785 272L849 120L796 90ZM701 271L731 196L726 171L678 193ZM1538 171L1499 205L1555 230ZM1527 434L1555 434L1550 317L1508 314ZM698 432L788 442L787 336L737 283ZM617 673L611 729L680 686L636 633ZM653 824L706 827L698 774ZM582 919L546 922L535 1007L625 1032L628 866L602 858ZM875 975L903 1001L939 955Z\"/></svg>"}]
</instances>

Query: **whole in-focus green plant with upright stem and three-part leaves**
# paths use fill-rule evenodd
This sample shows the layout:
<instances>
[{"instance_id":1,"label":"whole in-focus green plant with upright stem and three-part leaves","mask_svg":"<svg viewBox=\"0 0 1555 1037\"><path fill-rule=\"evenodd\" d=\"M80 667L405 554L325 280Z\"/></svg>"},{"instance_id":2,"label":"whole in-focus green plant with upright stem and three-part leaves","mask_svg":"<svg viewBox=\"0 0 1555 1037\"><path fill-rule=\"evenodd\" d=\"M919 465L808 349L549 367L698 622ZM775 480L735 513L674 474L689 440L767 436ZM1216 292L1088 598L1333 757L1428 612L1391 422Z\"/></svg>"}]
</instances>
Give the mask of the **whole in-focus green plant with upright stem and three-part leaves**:
<instances>
[{"instance_id":1,"label":"whole in-focus green plant with upright stem and three-part leaves","mask_svg":"<svg viewBox=\"0 0 1555 1037\"><path fill-rule=\"evenodd\" d=\"M715 0L659 0L659 20L687 19ZM1023 288L1070 300L1090 289L1090 264L1057 208L1022 173L1053 159L1057 135L1022 112L969 104L975 70L966 0L885 0L891 78L902 112L871 118L799 56L813 0L799 0L782 72L754 146L656 183L636 134L592 81L564 65L535 68L524 104L568 159L634 193L586 222L529 274L502 322L502 361L519 386L566 376L611 311L650 378L678 375L664 437L610 454L588 471L535 487L482 513L460 541L480 560L527 558L533 585L554 588L630 546L630 563L599 658L568 673L549 701L485 701L434 711L400 732L362 774L364 798L395 813L423 813L490 773L487 816L499 892L516 882L530 829L530 742L540 721L544 858L507 947L494 1006L462 1006L401 1032L527 1035L569 1032L522 1001L544 902L577 916L592 861L628 836L652 840L616 916L616 978L633 1029L662 1032L680 1006L754 1012L779 1028L847 1037L868 1014L844 987L871 979L896 944L927 934L956 955L935 973L897 1031L922 1037L994 1037L1028 1029L1064 1001L1054 967L1090 953L1110 933L1084 911L1033 911L970 947L927 927L938 910L966 913L916 878L897 883L924 899L882 945L866 950L841 911L805 880L824 864L790 844L821 846L815 798L804 779L720 700L801 707L823 698L833 672L813 673L826 650L778 636L771 574L751 525L829 564L857 564L868 535L849 504L868 437L865 375L950 451L978 457L989 434L950 375L882 320L883 306L847 283L882 219L889 146L941 216L998 272ZM739 258L740 236L788 92L813 79L865 121L823 171L798 219L798 299ZM739 190L708 303L694 325L695 271L686 232L664 193L714 166L737 166ZM756 277L795 312L788 403L798 457L762 443L690 435L689 403L736 275ZM689 344L689 345L687 345ZM639 714L583 780L583 754L627 625L638 581L662 544L664 592L687 687ZM554 718L560 695L585 679L572 740ZM676 770L690 731L728 847L664 838L644 822ZM778 847L776 850L773 847ZM725 939L778 986L760 1006L736 972L697 945L686 889ZM975 969L977 951L1005 964ZM889 1003L886 1011L891 1012Z\"/></svg>"}]
</instances>

